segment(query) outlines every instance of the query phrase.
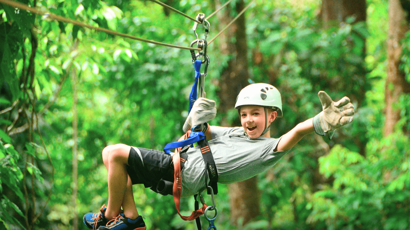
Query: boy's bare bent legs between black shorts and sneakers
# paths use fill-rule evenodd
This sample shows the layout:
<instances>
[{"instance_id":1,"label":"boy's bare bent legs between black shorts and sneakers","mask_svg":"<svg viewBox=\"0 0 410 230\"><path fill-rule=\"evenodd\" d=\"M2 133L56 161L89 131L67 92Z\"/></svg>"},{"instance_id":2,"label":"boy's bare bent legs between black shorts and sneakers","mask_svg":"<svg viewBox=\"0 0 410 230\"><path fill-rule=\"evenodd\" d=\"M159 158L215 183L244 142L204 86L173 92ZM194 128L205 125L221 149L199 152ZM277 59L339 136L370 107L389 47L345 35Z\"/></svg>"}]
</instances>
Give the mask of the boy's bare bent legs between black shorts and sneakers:
<instances>
[{"instance_id":1,"label":"boy's bare bent legs between black shorts and sneakers","mask_svg":"<svg viewBox=\"0 0 410 230\"><path fill-rule=\"evenodd\" d=\"M124 215L135 219L139 216L132 194L132 182L126 165L131 147L115 144L103 150L103 162L108 170L108 206L105 211L107 219L114 219L123 207Z\"/></svg>"}]
</instances>

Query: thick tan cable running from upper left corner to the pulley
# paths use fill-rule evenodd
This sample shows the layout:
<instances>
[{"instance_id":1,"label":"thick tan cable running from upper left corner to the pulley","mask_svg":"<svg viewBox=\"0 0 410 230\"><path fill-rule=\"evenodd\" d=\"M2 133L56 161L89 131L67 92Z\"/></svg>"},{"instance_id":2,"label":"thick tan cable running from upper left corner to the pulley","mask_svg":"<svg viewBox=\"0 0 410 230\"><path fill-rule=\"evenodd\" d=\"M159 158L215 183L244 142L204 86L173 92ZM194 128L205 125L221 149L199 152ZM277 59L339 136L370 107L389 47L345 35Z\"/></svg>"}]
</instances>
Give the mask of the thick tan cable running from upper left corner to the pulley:
<instances>
[{"instance_id":1,"label":"thick tan cable running from upper left corner to the pulley","mask_svg":"<svg viewBox=\"0 0 410 230\"><path fill-rule=\"evenodd\" d=\"M121 37L125 37L125 38L131 38L133 40L142 41L142 42L146 42L146 43L152 43L152 44L155 44L155 45L163 45L163 46L178 48L178 49L182 49L182 50L198 50L198 51L201 50L199 48L185 47L185 46L180 46L180 45L171 45L171 44L152 41L152 40L148 40L148 39L144 39L144 38L137 38L135 36L119 33L119 32L116 32L116 31L113 31L113 30L110 30L110 29L105 29L105 28L101 28L101 27L95 27L95 26L92 26L92 25L87 25L87 24L84 24L82 22L72 20L70 18L64 18L62 16L52 14L48 11L38 9L36 7L30 7L28 5L25 5L25 4L22 4L20 2L16 2L16 1L13 1L13 0L0 0L0 2L5 4L5 5L9 5L11 7L24 9L24 10L29 11L29 12L34 13L34 14L43 15L43 19L50 18L50 19L54 19L54 20L64 22L64 23L72 23L72 24L78 25L80 27L87 27L89 29L95 29L97 31L105 32L107 34L112 34L112 35L121 36Z\"/></svg>"}]
</instances>

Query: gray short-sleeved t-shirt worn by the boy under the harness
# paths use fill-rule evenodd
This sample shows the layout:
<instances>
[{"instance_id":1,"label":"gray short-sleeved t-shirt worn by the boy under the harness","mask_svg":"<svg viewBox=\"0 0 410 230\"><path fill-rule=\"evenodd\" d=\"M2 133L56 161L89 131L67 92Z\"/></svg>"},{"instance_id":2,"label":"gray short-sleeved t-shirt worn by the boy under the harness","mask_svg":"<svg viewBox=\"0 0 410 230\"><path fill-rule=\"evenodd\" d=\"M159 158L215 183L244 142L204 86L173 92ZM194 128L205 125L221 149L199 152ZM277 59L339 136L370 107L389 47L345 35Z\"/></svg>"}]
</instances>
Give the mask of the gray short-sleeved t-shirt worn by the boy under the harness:
<instances>
[{"instance_id":1,"label":"gray short-sleeved t-shirt worn by the boy under the harness","mask_svg":"<svg viewBox=\"0 0 410 230\"><path fill-rule=\"evenodd\" d=\"M249 179L271 168L289 151L273 152L280 138L245 135L242 127L212 126L208 141L218 171L219 183L234 183ZM188 159L181 172L182 197L192 196L209 183L205 162L199 146L189 148Z\"/></svg>"}]
</instances>

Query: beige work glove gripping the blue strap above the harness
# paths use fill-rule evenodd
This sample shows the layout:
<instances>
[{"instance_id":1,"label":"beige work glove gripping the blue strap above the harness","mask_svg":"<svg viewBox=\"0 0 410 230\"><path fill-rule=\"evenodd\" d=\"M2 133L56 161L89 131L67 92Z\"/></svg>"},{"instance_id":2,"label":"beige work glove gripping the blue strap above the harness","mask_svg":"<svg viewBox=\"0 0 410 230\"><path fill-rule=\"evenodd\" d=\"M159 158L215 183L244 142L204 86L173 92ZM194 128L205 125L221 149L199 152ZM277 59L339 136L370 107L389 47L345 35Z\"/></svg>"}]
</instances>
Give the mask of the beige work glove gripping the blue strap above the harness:
<instances>
[{"instance_id":1,"label":"beige work glove gripping the blue strap above the harness","mask_svg":"<svg viewBox=\"0 0 410 230\"><path fill-rule=\"evenodd\" d=\"M184 132L187 132L193 126L204 124L216 117L216 103L214 100L206 99L205 97L198 98L192 105L187 120L182 127ZM204 130L205 132L205 130Z\"/></svg>"}]
</instances>

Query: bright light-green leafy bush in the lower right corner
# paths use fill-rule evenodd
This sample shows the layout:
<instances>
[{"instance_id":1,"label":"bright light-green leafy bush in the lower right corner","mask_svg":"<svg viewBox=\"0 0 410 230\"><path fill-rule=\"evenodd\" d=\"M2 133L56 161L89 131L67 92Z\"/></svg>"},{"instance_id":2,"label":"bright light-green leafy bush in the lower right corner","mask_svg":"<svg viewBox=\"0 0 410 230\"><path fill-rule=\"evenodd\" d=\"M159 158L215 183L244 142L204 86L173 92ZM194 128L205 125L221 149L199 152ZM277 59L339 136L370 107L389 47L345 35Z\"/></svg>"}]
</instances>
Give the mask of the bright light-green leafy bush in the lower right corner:
<instances>
[{"instance_id":1,"label":"bright light-green leafy bush in the lower right corner","mask_svg":"<svg viewBox=\"0 0 410 230\"><path fill-rule=\"evenodd\" d=\"M335 146L319 158L320 171L333 186L315 192L308 223L323 221L328 229L407 229L410 225L408 164L410 142L395 133L367 144L366 158ZM394 207L393 209L391 209Z\"/></svg>"}]
</instances>

